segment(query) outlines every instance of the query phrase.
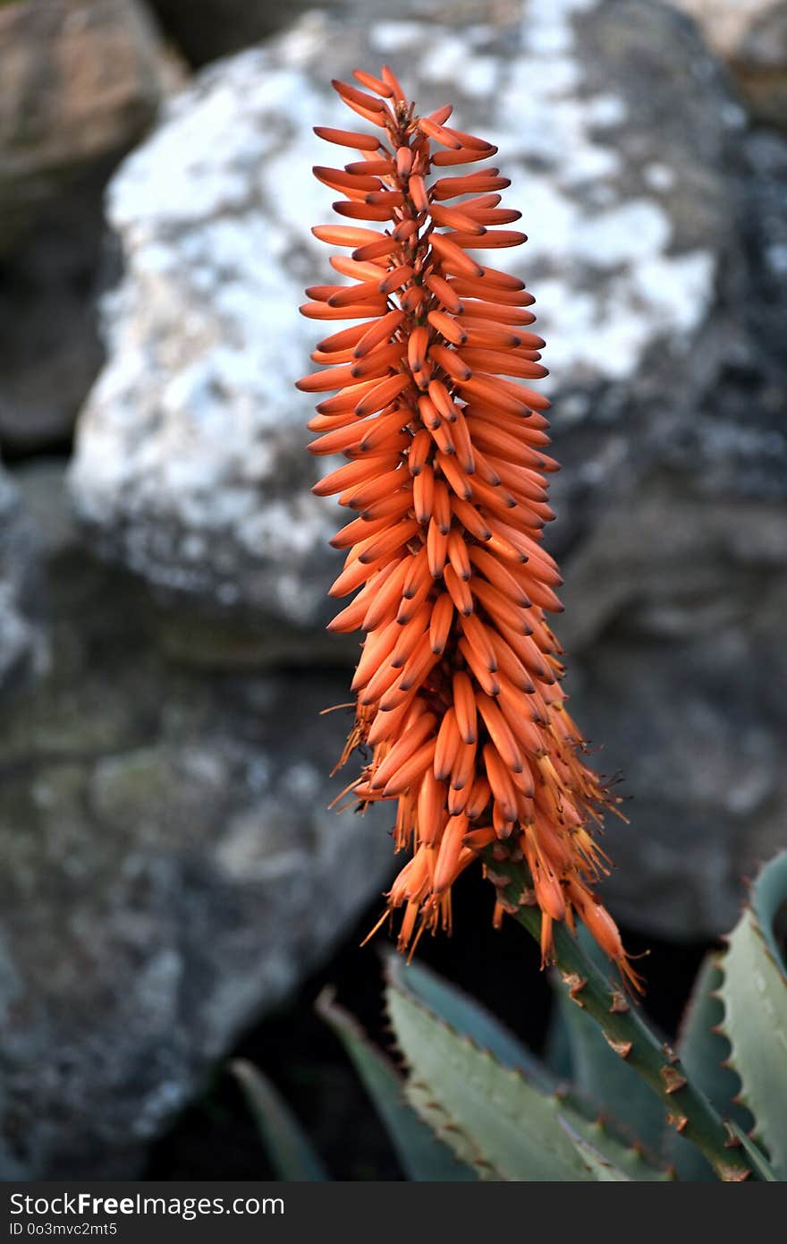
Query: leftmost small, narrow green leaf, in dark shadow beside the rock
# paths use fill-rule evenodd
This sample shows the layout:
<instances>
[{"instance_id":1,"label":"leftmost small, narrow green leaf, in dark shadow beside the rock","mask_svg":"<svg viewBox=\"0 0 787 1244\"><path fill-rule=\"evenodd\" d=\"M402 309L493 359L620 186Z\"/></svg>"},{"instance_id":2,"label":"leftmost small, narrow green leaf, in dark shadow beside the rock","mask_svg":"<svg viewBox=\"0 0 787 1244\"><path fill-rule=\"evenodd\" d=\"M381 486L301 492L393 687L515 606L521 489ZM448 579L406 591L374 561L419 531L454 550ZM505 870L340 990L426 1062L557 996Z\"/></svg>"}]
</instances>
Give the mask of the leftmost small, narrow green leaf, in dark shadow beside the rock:
<instances>
[{"instance_id":1,"label":"leftmost small, narrow green leaf, in dark shadow beside the rock","mask_svg":"<svg viewBox=\"0 0 787 1244\"><path fill-rule=\"evenodd\" d=\"M242 1088L277 1177L288 1183L324 1183L329 1176L267 1076L245 1059L235 1059L230 1071Z\"/></svg>"}]
</instances>

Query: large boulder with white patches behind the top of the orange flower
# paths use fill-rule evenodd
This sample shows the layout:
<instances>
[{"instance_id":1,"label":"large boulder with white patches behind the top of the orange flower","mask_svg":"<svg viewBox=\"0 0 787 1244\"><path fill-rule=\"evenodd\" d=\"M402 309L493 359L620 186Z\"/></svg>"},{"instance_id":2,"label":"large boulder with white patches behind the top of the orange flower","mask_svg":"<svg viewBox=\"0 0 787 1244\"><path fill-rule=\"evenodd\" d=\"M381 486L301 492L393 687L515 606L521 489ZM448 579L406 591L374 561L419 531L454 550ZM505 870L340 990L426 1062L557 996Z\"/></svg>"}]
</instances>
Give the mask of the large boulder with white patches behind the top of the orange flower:
<instances>
[{"instance_id":1,"label":"large boulder with white patches behind the top of the orange flower","mask_svg":"<svg viewBox=\"0 0 787 1244\"><path fill-rule=\"evenodd\" d=\"M434 21L368 30L311 15L172 102L108 195L124 276L71 475L104 555L295 632L326 621L337 519L308 493L310 403L292 388L316 338L301 290L328 271L310 229L329 218L311 177L329 157L311 126L347 123L331 76L383 58L424 109L451 97L500 146L531 235L512 262L538 294L561 419L593 444L561 494L563 539L578 537L588 491L605 493L620 445L629 469L645 414L689 412L717 374L716 295L741 267L724 168L740 109L680 19L624 9L470 4L461 29L439 5Z\"/></svg>"}]
</instances>

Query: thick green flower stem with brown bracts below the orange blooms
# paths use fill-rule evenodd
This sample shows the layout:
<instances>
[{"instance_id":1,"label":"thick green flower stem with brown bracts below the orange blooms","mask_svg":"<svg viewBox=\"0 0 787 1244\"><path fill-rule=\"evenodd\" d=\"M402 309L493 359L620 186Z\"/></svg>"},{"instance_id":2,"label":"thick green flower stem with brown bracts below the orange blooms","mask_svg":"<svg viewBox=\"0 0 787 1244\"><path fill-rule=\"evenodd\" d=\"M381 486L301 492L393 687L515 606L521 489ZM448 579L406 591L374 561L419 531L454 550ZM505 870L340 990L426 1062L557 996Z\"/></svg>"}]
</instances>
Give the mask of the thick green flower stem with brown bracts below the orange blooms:
<instances>
[{"instance_id":1,"label":"thick green flower stem with brown bracts below the orange blooms","mask_svg":"<svg viewBox=\"0 0 787 1244\"><path fill-rule=\"evenodd\" d=\"M490 880L513 918L537 940L541 939L541 909L522 904L531 891L527 870L521 863L494 860L486 853ZM563 923L556 923L555 958L569 996L602 1029L612 1049L625 1059L668 1107L670 1122L707 1158L720 1179L757 1179L757 1172L734 1132L725 1126L707 1097L691 1085L674 1051L648 1028L635 1005L596 968Z\"/></svg>"}]
</instances>

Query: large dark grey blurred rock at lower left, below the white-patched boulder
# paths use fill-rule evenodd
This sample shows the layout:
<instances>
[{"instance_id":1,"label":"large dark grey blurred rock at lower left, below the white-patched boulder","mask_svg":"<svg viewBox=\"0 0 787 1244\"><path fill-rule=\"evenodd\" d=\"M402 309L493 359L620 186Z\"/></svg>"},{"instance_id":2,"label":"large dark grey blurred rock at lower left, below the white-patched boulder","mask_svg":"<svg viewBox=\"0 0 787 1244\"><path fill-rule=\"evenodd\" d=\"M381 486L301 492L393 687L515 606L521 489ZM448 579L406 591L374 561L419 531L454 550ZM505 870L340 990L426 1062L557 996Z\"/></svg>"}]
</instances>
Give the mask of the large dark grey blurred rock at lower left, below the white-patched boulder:
<instances>
[{"instance_id":1,"label":"large dark grey blurred rock at lower left, below the white-patched boulder","mask_svg":"<svg viewBox=\"0 0 787 1244\"><path fill-rule=\"evenodd\" d=\"M20 486L51 659L0 724L2 1173L133 1178L383 889L392 846L326 807L344 723L318 710L343 675L164 659L147 593L83 551L60 468Z\"/></svg>"}]
</instances>

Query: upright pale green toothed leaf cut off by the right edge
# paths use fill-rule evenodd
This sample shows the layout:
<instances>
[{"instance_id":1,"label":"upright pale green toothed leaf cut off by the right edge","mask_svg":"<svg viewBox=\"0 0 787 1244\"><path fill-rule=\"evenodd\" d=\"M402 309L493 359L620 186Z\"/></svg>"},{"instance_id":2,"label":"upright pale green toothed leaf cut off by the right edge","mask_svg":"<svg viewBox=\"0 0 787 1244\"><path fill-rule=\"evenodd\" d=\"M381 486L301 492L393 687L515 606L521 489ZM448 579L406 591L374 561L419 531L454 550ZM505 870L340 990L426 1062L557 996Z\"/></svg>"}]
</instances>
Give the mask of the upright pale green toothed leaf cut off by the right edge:
<instances>
[{"instance_id":1,"label":"upright pale green toothed leaf cut off by the right edge","mask_svg":"<svg viewBox=\"0 0 787 1244\"><path fill-rule=\"evenodd\" d=\"M777 1179L787 1179L787 974L776 933L785 903L787 852L751 887L751 906L730 934L720 989L729 1062L755 1116L752 1138L767 1151Z\"/></svg>"}]
</instances>

